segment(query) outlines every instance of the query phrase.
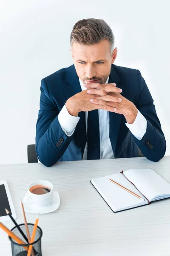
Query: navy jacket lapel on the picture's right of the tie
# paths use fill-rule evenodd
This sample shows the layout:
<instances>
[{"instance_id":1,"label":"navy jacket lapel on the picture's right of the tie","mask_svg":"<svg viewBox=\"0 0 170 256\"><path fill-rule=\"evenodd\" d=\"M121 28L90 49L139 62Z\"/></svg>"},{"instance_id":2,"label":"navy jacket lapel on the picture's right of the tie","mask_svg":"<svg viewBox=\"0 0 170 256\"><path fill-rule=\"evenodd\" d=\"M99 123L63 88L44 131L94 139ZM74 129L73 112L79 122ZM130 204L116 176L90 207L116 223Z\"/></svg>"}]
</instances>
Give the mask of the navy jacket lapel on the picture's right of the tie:
<instances>
[{"instance_id":1,"label":"navy jacket lapel on the picture's right of the tie","mask_svg":"<svg viewBox=\"0 0 170 256\"><path fill-rule=\"evenodd\" d=\"M115 83L117 85L116 87L119 87L122 89L121 95L124 96L124 87L121 86L121 84L119 82L120 82L120 78L119 78L118 74L116 73L116 71L114 70L113 66L111 66L111 73L109 76L108 83ZM117 138L119 135L121 121L122 121L121 114L118 114L115 112L109 112L109 123L110 123L109 137L111 140L111 145L112 145L114 156L115 156L116 143L117 143Z\"/></svg>"}]
</instances>

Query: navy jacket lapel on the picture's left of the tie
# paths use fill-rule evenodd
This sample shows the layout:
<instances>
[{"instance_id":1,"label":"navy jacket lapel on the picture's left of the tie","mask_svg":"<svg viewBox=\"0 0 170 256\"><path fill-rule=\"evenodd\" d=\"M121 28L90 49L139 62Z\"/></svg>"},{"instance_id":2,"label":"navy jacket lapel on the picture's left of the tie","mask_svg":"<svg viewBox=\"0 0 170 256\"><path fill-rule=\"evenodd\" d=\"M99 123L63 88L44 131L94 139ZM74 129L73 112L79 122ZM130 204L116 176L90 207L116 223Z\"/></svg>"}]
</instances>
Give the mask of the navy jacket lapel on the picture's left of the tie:
<instances>
[{"instance_id":1,"label":"navy jacket lapel on the picture's left of the tie","mask_svg":"<svg viewBox=\"0 0 170 256\"><path fill-rule=\"evenodd\" d=\"M70 67L68 75L65 79L68 84L65 84L64 90L66 98L69 99L73 95L82 91L79 77L77 76L77 72L75 70L74 65ZM86 125L85 125L85 112L79 112L79 122L76 126L76 134L79 139L79 145L82 152L82 157L85 150L85 144L87 142L87 135L86 135Z\"/></svg>"}]
</instances>

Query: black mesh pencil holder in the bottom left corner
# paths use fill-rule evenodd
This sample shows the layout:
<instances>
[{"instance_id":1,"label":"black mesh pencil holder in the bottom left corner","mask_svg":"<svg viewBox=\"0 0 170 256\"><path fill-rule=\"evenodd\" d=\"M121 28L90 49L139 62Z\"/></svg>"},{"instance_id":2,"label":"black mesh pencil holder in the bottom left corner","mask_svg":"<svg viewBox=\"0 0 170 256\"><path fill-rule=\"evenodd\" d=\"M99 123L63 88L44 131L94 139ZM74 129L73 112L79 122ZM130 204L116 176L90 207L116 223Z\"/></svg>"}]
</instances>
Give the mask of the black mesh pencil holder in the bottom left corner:
<instances>
[{"instance_id":1,"label":"black mesh pencil holder in the bottom left corner","mask_svg":"<svg viewBox=\"0 0 170 256\"><path fill-rule=\"evenodd\" d=\"M20 224L19 226L27 237L25 224ZM33 228L34 228L34 224L28 223L28 230L30 233L30 237L32 236ZM23 238L22 234L17 229L17 227L13 227L11 231L24 242L24 244L18 244L16 241L14 241L14 239L8 236L9 240L11 241L12 256L27 256L29 245L33 245L31 256L42 256L42 252L41 252L42 230L40 227L37 226L34 243L31 243L31 244L27 243L27 241Z\"/></svg>"}]
</instances>

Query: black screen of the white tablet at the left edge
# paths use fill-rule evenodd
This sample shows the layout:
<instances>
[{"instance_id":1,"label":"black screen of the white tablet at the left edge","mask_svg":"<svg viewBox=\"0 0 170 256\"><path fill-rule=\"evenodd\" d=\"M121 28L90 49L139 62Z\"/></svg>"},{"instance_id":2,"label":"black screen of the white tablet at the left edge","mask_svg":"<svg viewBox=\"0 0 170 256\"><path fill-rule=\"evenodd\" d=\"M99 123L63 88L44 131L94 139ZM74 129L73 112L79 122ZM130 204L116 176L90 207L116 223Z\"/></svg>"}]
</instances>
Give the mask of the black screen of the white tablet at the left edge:
<instances>
[{"instance_id":1,"label":"black screen of the white tablet at the left edge","mask_svg":"<svg viewBox=\"0 0 170 256\"><path fill-rule=\"evenodd\" d=\"M0 217L6 216L5 208L11 213L11 208L9 206L8 197L6 195L5 185L0 185Z\"/></svg>"}]
</instances>

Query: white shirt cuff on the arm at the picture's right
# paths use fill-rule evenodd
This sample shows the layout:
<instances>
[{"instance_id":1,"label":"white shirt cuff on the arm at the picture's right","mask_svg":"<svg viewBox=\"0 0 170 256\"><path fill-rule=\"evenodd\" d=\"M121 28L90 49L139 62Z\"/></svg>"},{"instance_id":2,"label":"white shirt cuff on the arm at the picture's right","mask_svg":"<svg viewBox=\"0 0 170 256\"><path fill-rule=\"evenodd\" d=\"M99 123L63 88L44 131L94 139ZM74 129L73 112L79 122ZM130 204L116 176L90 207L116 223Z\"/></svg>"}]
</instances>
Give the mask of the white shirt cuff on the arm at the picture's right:
<instances>
[{"instance_id":1,"label":"white shirt cuff on the arm at the picture's right","mask_svg":"<svg viewBox=\"0 0 170 256\"><path fill-rule=\"evenodd\" d=\"M126 126L129 128L131 133L138 139L142 140L146 129L147 129L147 120L138 110L137 116L133 124L125 123Z\"/></svg>"}]
</instances>

